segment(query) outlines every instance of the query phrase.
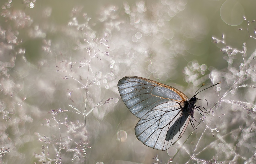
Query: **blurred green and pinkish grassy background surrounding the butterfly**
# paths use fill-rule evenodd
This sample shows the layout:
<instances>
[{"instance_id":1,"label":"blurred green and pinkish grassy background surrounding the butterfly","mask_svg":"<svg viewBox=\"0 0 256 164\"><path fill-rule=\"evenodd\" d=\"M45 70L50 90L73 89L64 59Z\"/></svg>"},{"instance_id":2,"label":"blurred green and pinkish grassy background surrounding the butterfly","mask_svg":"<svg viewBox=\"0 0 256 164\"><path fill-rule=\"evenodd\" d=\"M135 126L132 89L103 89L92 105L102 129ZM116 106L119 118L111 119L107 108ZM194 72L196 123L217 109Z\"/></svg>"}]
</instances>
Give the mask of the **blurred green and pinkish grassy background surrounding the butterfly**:
<instances>
[{"instance_id":1,"label":"blurred green and pinkish grassy background surrounding the butterfly","mask_svg":"<svg viewBox=\"0 0 256 164\"><path fill-rule=\"evenodd\" d=\"M1 163L256 162L256 1L0 6ZM135 136L117 89L128 75L188 97L222 83L197 95L211 110L195 112L197 129L158 151Z\"/></svg>"}]
</instances>

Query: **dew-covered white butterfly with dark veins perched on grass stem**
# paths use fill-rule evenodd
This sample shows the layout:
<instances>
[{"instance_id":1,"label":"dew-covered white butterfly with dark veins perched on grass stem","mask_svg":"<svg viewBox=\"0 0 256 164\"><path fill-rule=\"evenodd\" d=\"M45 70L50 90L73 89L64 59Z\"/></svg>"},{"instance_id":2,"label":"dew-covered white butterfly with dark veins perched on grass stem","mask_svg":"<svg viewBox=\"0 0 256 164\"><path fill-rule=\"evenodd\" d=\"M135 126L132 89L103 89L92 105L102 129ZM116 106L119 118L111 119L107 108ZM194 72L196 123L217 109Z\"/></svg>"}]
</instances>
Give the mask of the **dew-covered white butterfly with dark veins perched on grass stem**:
<instances>
[{"instance_id":1,"label":"dew-covered white butterfly with dark veins perched on grass stem","mask_svg":"<svg viewBox=\"0 0 256 164\"><path fill-rule=\"evenodd\" d=\"M136 137L157 150L166 150L177 142L192 122L195 109L202 107L195 105L196 94L189 99L176 88L142 77L126 76L117 86L127 108L140 118Z\"/></svg>"}]
</instances>

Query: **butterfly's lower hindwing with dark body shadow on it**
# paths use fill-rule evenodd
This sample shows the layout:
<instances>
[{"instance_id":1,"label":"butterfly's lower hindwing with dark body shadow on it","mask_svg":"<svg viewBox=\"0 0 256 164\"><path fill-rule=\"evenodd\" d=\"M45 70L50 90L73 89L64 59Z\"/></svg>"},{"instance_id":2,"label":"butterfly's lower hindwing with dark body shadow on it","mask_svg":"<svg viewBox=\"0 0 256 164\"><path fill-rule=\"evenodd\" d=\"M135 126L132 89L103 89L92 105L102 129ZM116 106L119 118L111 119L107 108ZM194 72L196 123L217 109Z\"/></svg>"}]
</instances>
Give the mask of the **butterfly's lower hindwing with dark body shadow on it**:
<instances>
[{"instance_id":1,"label":"butterfly's lower hindwing with dark body shadow on it","mask_svg":"<svg viewBox=\"0 0 256 164\"><path fill-rule=\"evenodd\" d=\"M135 126L135 134L143 144L166 150L180 139L191 115L176 102L167 102L145 114Z\"/></svg>"}]
</instances>

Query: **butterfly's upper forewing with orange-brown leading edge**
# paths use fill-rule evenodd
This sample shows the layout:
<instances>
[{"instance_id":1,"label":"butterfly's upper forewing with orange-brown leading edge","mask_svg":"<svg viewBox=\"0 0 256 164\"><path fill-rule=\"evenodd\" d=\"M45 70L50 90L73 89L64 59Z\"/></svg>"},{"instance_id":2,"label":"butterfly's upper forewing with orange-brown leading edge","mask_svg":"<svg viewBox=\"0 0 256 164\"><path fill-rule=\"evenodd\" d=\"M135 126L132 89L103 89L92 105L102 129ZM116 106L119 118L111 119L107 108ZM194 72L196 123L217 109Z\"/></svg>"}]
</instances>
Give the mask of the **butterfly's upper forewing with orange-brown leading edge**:
<instances>
[{"instance_id":1,"label":"butterfly's upper forewing with orange-brown leading edge","mask_svg":"<svg viewBox=\"0 0 256 164\"><path fill-rule=\"evenodd\" d=\"M119 80L118 90L127 108L138 118L160 104L188 100L185 94L173 87L136 76Z\"/></svg>"}]
</instances>

